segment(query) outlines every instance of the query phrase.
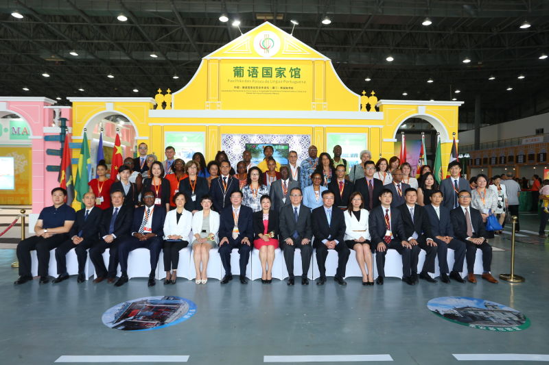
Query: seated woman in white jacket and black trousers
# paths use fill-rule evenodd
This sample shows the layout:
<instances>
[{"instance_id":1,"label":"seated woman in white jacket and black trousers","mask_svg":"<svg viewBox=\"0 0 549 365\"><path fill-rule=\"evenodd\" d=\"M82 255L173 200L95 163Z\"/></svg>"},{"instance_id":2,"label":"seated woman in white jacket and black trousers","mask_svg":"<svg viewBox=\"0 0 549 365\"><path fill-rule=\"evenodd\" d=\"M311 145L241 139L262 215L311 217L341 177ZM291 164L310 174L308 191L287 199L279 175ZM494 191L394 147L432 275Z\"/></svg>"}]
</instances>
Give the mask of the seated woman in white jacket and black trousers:
<instances>
[{"instance_id":1,"label":"seated woman in white jacket and black trousers","mask_svg":"<svg viewBox=\"0 0 549 365\"><path fill-rule=\"evenodd\" d=\"M185 210L187 198L183 192L176 192L174 203L176 209L167 212L164 221L164 270L166 270L166 284L176 284L179 251L189 245L191 221L193 214Z\"/></svg>"}]
</instances>

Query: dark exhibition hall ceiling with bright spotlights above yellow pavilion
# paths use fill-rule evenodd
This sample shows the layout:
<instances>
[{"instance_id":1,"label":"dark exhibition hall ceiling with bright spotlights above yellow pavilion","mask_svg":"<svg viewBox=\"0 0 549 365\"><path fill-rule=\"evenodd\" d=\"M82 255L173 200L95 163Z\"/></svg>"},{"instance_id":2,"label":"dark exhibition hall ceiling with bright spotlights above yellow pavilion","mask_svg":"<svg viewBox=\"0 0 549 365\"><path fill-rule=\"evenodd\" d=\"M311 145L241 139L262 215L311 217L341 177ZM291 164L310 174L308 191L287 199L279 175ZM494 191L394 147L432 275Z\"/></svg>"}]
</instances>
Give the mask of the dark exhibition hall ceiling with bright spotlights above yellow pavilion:
<instances>
[{"instance_id":1,"label":"dark exhibition hall ceiling with bright spotlights above yellow pavilion","mask_svg":"<svg viewBox=\"0 0 549 365\"><path fill-rule=\"evenodd\" d=\"M465 101L462 123L477 95L484 123L547 108L541 0L0 0L1 95L154 97L264 21L293 29L358 94Z\"/></svg>"}]
</instances>

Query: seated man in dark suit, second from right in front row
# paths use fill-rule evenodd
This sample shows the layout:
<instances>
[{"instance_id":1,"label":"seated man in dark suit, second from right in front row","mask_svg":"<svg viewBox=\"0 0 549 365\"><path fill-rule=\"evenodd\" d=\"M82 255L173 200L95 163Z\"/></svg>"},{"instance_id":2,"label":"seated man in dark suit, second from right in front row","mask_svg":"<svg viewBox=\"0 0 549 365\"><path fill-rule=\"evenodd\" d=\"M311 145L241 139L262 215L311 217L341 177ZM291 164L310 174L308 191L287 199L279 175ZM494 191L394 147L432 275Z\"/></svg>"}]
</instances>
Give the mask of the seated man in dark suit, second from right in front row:
<instances>
[{"instance_id":1,"label":"seated man in dark suit, second from right in front row","mask_svg":"<svg viewBox=\"0 0 549 365\"><path fill-rule=\"evenodd\" d=\"M439 255L439 268L441 270L441 281L449 284L452 278L458 283L465 283L460 275L465 260L465 242L454 238L454 227L450 220L450 211L441 205L443 195L440 190L434 190L430 196L431 203L425 205L425 211L431 224L431 237L436 243ZM454 250L454 266L448 277L448 249Z\"/></svg>"}]
</instances>

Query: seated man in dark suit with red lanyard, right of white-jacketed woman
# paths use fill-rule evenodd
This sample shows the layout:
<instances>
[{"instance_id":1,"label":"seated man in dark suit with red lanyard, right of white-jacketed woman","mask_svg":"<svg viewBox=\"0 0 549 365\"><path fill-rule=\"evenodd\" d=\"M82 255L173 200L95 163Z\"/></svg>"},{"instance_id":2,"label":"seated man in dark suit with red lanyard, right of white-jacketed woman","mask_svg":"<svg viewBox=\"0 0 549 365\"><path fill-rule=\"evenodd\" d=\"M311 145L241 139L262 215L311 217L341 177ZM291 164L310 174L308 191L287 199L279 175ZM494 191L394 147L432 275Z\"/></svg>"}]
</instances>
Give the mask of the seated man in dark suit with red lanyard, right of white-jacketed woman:
<instances>
[{"instance_id":1,"label":"seated man in dark suit with red lanyard, right of white-jacketed woman","mask_svg":"<svg viewBox=\"0 0 549 365\"><path fill-rule=\"evenodd\" d=\"M377 285L383 285L385 277L385 255L387 249L395 249L402 256L402 281L414 285L412 280L412 245L406 241L406 234L400 211L390 207L393 193L384 189L379 193L381 205L375 207L368 217L371 242L377 244L375 249L375 264L377 265Z\"/></svg>"}]
</instances>

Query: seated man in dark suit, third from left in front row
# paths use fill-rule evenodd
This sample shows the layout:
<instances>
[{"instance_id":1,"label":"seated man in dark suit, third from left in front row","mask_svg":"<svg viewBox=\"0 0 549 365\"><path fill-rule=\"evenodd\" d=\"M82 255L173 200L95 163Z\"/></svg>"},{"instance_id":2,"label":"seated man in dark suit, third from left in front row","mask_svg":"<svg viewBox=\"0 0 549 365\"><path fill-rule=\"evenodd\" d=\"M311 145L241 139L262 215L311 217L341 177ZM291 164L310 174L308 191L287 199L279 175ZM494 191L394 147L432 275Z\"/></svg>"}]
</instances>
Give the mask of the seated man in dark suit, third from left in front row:
<instances>
[{"instance_id":1,"label":"seated man in dark suit, third from left in front row","mask_svg":"<svg viewBox=\"0 0 549 365\"><path fill-rule=\"evenodd\" d=\"M132 227L133 209L124 205L124 192L116 190L110 193L112 205L104 212L99 225L101 239L90 249L90 259L95 266L97 277L94 283L100 283L104 279L114 283L118 268L118 248L121 241L130 236ZM108 250L108 270L103 261L103 253Z\"/></svg>"}]
</instances>

